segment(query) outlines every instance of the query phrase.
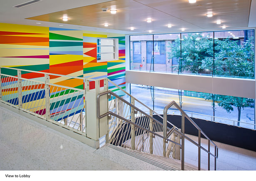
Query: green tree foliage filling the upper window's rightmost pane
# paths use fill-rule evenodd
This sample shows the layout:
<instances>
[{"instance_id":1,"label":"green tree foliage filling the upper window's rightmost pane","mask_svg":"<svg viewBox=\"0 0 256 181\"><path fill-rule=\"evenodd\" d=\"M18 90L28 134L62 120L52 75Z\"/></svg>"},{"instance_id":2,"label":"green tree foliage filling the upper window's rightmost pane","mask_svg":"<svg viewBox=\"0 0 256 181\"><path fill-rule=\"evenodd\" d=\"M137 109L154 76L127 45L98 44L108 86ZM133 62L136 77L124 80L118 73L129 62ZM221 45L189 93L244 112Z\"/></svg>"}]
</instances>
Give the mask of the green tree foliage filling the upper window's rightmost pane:
<instances>
[{"instance_id":1,"label":"green tree foliage filling the upper window's rightmost pane","mask_svg":"<svg viewBox=\"0 0 256 181\"><path fill-rule=\"evenodd\" d=\"M253 39L240 45L229 39L215 41L215 69L218 76L254 78Z\"/></svg>"}]
</instances>

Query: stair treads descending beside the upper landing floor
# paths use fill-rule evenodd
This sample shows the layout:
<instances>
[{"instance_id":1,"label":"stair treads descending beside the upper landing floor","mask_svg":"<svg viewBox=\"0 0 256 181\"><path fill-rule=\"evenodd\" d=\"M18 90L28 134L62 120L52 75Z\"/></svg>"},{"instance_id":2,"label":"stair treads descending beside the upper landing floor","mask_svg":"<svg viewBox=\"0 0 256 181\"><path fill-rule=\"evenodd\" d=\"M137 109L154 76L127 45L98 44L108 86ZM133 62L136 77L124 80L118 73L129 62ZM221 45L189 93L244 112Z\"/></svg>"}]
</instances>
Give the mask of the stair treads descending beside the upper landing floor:
<instances>
[{"instance_id":1,"label":"stair treads descending beside the upper landing floor","mask_svg":"<svg viewBox=\"0 0 256 181\"><path fill-rule=\"evenodd\" d=\"M179 160L156 156L154 154L144 153L137 150L125 149L121 146L114 146L112 144L109 144L109 148L115 149L129 156L133 156L134 158L140 159L164 170L181 170L181 161ZM197 170L197 168L195 166L185 164L184 170Z\"/></svg>"}]
</instances>

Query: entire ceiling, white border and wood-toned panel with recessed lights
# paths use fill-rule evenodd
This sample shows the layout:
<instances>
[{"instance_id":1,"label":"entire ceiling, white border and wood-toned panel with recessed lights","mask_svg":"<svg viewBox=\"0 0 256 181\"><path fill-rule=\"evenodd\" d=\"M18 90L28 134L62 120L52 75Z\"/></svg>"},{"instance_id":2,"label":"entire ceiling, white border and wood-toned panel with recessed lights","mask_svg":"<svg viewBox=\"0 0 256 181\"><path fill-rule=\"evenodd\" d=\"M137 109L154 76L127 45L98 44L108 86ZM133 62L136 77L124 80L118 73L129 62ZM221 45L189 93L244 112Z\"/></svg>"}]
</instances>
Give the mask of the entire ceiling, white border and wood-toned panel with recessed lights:
<instances>
[{"instance_id":1,"label":"entire ceiling, white border and wood-toned panel with recessed lights","mask_svg":"<svg viewBox=\"0 0 256 181\"><path fill-rule=\"evenodd\" d=\"M180 32L181 28L191 30L215 30L226 25L227 29L248 27L250 13L255 14L256 0L197 0L190 4L188 0L42 0L25 7L12 7L27 0L12 0L1 4L0 22L17 24L33 24L41 22L41 26L76 28L119 33L140 32ZM102 11L107 7L107 12ZM109 10L116 9L113 15ZM207 13L213 17L207 17ZM69 20L64 22L62 17ZM5 18L3 18L5 17ZM152 22L147 23L147 18ZM221 25L216 24L221 20ZM104 23L109 27L104 27ZM172 27L168 28L167 25ZM37 24L38 25L38 24ZM130 27L134 27L131 31Z\"/></svg>"}]
</instances>

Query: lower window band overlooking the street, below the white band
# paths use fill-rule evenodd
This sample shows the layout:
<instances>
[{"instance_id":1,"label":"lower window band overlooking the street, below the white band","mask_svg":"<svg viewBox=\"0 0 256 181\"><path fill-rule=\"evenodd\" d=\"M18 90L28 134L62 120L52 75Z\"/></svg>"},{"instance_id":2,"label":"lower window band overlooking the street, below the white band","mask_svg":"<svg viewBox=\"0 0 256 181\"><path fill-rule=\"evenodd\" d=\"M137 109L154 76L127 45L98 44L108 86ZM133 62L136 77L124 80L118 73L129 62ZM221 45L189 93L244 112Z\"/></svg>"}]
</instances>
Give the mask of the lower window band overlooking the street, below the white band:
<instances>
[{"instance_id":1,"label":"lower window band overlooking the street, below the white band","mask_svg":"<svg viewBox=\"0 0 256 181\"><path fill-rule=\"evenodd\" d=\"M151 92L150 86L131 84L131 94L158 114L163 114L164 107L174 100L189 117L256 129L255 99L163 87L153 87L154 94ZM143 110L140 104L135 102L135 105ZM171 107L168 114L180 115L180 112Z\"/></svg>"}]
</instances>

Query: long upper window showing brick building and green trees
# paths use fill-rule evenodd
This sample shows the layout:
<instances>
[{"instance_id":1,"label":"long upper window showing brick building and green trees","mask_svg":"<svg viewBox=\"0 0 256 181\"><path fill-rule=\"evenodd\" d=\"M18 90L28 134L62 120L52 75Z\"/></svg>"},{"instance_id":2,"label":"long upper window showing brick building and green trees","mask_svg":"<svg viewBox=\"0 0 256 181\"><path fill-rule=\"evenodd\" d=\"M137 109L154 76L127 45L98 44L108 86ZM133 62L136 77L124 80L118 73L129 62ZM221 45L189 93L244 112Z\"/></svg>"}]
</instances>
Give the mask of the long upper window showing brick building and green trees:
<instances>
[{"instance_id":1,"label":"long upper window showing brick building and green trees","mask_svg":"<svg viewBox=\"0 0 256 181\"><path fill-rule=\"evenodd\" d=\"M254 30L131 35L131 69L254 79L254 39Z\"/></svg>"}]
</instances>

